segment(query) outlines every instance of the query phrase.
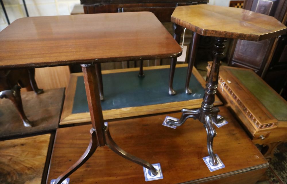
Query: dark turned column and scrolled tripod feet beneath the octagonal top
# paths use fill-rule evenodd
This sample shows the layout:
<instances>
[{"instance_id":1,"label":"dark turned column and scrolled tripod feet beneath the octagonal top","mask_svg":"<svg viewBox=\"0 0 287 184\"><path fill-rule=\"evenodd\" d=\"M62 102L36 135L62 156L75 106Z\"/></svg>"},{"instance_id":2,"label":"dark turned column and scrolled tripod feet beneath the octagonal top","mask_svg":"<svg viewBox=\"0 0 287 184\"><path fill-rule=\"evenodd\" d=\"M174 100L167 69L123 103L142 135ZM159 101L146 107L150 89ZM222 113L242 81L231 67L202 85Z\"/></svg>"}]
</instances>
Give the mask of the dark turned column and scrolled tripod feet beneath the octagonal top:
<instances>
[{"instance_id":1,"label":"dark turned column and scrolled tripod feet beneath the octagonal top","mask_svg":"<svg viewBox=\"0 0 287 184\"><path fill-rule=\"evenodd\" d=\"M214 60L210 70L210 74L205 87L205 94L203 96L203 102L201 108L197 110L182 109L182 116L178 121L167 120L167 124L181 126L188 118L198 119L203 123L207 132L207 150L210 156L210 162L212 165L217 165L218 161L213 153L213 138L216 136L216 131L213 126L213 122L219 123L223 120L223 117L217 118L219 109L213 106L215 101L215 94L218 85L218 74L220 66L220 58L224 55L224 48L226 38L216 38L215 48L213 51ZM213 121L213 122L212 122Z\"/></svg>"}]
</instances>

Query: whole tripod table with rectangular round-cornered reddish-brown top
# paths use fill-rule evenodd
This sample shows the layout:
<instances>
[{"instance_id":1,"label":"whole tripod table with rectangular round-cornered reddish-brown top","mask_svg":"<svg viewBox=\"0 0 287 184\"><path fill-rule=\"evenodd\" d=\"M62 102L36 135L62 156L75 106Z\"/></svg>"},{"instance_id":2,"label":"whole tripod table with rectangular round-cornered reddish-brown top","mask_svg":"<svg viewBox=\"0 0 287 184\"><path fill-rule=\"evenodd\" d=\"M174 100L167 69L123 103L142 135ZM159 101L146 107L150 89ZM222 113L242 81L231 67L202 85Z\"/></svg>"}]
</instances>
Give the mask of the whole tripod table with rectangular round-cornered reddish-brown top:
<instances>
[{"instance_id":1,"label":"whole tripod table with rectangular round-cornered reddish-brown top","mask_svg":"<svg viewBox=\"0 0 287 184\"><path fill-rule=\"evenodd\" d=\"M0 32L0 69L82 64L92 121L91 140L86 152L57 178L56 184L82 166L97 147L105 145L156 175L150 163L128 154L111 138L102 115L94 65L172 58L181 51L150 12L28 17L15 20Z\"/></svg>"}]
</instances>

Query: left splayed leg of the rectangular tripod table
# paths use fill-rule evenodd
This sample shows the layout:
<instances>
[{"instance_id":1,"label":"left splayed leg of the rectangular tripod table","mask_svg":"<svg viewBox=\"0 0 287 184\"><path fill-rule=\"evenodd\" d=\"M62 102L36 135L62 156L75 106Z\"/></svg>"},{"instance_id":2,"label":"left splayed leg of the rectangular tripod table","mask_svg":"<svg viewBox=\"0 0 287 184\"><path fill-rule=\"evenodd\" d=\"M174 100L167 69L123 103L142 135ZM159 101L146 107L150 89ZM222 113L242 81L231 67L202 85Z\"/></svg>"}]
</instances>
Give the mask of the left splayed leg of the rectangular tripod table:
<instances>
[{"instance_id":1,"label":"left splayed leg of the rectangular tripod table","mask_svg":"<svg viewBox=\"0 0 287 184\"><path fill-rule=\"evenodd\" d=\"M61 174L57 178L55 184L61 184L62 181L64 181L73 172L75 172L75 170L77 170L79 167L81 167L96 151L96 149L98 147L96 130L92 128L90 130L90 134L91 134L90 144L89 144L87 150L85 151L85 153L81 156L81 158L79 158L79 160L75 164L73 164L69 169L67 169L63 174Z\"/></svg>"}]
</instances>

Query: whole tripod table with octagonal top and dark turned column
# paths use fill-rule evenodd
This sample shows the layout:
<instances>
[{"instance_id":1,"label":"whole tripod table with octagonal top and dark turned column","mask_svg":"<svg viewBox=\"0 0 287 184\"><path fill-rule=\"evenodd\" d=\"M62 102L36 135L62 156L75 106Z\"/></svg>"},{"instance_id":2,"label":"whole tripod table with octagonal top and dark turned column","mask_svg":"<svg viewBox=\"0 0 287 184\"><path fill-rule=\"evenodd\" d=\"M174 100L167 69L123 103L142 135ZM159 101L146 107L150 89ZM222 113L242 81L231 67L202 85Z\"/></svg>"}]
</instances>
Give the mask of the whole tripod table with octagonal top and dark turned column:
<instances>
[{"instance_id":1,"label":"whole tripod table with octagonal top and dark turned column","mask_svg":"<svg viewBox=\"0 0 287 184\"><path fill-rule=\"evenodd\" d=\"M213 122L219 123L223 117L217 118L219 109L214 107L213 103L218 85L220 57L224 55L226 38L260 41L284 34L287 28L271 16L244 9L205 4L176 7L171 16L171 21L197 34L216 37L213 51L214 60L206 83L201 108L197 110L182 109L182 116L178 121L167 120L166 123L180 126L188 118L198 119L202 122L207 132L210 162L212 165L217 165L218 161L212 146L216 136ZM189 63L189 65L191 64L192 62Z\"/></svg>"}]
</instances>

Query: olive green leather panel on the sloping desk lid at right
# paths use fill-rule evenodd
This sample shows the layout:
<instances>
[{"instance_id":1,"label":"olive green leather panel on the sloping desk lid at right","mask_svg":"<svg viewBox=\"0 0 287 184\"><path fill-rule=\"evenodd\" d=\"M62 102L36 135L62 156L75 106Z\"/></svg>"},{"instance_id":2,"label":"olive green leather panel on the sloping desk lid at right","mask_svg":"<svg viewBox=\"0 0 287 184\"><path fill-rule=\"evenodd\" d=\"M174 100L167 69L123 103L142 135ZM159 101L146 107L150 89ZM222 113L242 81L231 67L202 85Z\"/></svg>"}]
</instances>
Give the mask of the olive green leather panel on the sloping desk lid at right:
<instances>
[{"instance_id":1,"label":"olive green leather panel on the sloping desk lid at right","mask_svg":"<svg viewBox=\"0 0 287 184\"><path fill-rule=\"evenodd\" d=\"M256 74L250 70L228 70L280 121L287 120L287 102L270 89Z\"/></svg>"}]
</instances>

